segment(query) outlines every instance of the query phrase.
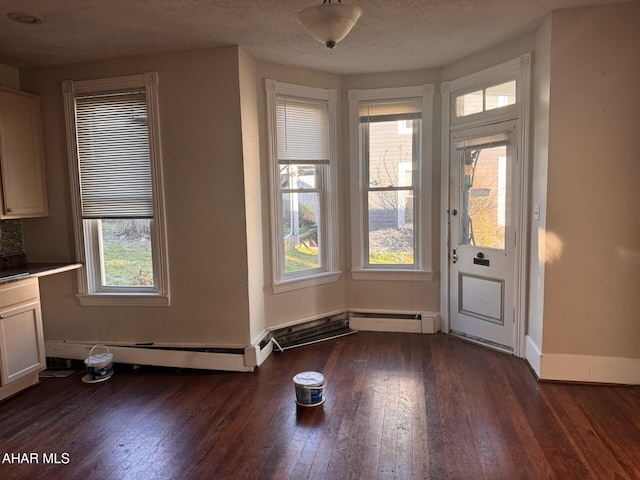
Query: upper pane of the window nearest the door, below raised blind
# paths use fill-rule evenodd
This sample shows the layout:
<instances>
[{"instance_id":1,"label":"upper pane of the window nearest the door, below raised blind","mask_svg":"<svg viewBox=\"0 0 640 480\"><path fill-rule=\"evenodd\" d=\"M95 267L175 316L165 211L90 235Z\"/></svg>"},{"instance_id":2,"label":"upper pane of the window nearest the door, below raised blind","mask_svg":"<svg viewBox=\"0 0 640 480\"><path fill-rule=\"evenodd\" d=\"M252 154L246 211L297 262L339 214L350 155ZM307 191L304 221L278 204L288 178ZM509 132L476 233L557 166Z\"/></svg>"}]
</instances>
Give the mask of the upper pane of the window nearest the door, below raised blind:
<instances>
[{"instance_id":1,"label":"upper pane of the window nearest the door, below raised blind","mask_svg":"<svg viewBox=\"0 0 640 480\"><path fill-rule=\"evenodd\" d=\"M413 133L419 120L369 123L369 186L413 185Z\"/></svg>"}]
</instances>

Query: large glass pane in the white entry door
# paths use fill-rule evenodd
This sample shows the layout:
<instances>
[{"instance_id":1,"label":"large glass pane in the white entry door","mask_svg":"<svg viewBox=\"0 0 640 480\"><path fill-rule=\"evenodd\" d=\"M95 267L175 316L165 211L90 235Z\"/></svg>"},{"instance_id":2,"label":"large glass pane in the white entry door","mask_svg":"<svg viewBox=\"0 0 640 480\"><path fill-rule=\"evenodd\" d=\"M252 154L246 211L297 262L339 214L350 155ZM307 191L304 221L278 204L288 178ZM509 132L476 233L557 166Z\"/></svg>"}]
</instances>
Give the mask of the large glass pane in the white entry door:
<instances>
[{"instance_id":1,"label":"large glass pane in the white entry door","mask_svg":"<svg viewBox=\"0 0 640 480\"><path fill-rule=\"evenodd\" d=\"M506 146L464 151L461 243L505 247Z\"/></svg>"}]
</instances>

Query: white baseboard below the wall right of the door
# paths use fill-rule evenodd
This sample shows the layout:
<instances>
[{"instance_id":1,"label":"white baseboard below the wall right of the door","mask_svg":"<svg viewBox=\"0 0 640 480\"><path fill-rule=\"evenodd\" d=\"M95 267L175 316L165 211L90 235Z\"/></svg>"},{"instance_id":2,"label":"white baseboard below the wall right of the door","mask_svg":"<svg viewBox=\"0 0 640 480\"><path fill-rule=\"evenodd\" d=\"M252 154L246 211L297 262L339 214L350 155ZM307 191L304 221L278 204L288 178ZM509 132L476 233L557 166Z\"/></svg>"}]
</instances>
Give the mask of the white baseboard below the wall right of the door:
<instances>
[{"instance_id":1,"label":"white baseboard below the wall right of the door","mask_svg":"<svg viewBox=\"0 0 640 480\"><path fill-rule=\"evenodd\" d=\"M640 359L543 353L540 379L640 385Z\"/></svg>"}]
</instances>

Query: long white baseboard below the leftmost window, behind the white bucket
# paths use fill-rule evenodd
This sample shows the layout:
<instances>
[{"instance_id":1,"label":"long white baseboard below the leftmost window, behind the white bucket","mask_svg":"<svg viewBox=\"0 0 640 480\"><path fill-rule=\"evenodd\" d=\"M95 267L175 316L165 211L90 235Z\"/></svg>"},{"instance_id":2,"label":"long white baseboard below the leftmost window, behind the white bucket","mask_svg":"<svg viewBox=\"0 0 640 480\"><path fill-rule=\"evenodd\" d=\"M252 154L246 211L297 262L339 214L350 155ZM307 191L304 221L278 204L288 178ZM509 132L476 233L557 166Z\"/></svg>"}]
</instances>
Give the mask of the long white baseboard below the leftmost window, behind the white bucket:
<instances>
[{"instance_id":1,"label":"long white baseboard below the leftmost window, behind the white bucket","mask_svg":"<svg viewBox=\"0 0 640 480\"><path fill-rule=\"evenodd\" d=\"M45 352L47 357L84 360L89 356L92 346L93 344L83 342L48 340L45 342ZM107 347L116 363L232 372L252 372L257 365L257 357L254 355L254 358L251 358L251 352L247 352L246 349L244 354L234 354L119 345L107 345Z\"/></svg>"}]
</instances>

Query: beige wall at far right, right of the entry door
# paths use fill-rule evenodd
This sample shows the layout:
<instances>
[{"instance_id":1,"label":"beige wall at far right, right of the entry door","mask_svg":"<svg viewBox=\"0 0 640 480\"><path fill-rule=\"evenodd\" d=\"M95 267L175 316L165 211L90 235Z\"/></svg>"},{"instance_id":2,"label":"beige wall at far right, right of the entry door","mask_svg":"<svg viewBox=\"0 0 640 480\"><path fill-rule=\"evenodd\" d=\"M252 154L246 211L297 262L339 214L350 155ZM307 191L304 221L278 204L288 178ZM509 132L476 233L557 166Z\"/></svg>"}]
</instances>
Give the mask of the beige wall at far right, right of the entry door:
<instances>
[{"instance_id":1,"label":"beige wall at far right, right of the entry door","mask_svg":"<svg viewBox=\"0 0 640 480\"><path fill-rule=\"evenodd\" d=\"M638 25L638 3L553 14L545 353L640 358Z\"/></svg>"}]
</instances>

